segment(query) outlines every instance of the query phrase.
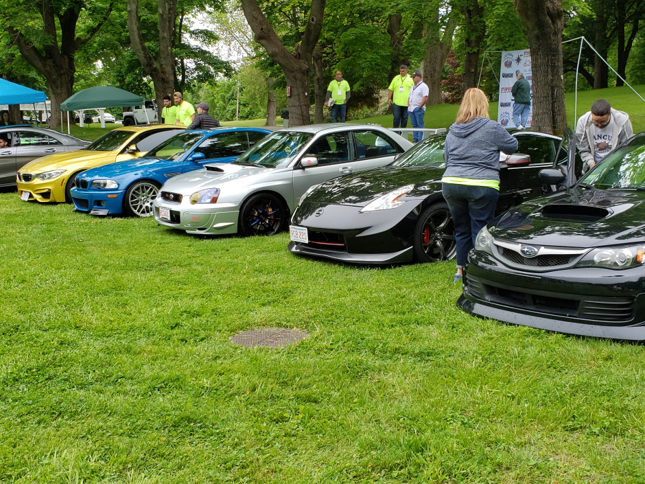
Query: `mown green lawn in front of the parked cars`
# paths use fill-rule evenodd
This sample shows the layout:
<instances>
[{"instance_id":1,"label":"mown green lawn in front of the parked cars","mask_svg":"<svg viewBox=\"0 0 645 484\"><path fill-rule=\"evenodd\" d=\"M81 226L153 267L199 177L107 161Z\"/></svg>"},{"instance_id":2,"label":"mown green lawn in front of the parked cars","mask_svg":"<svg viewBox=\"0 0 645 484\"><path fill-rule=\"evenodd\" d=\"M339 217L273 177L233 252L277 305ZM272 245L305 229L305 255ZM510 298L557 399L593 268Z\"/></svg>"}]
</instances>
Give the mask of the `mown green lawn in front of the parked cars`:
<instances>
[{"instance_id":1,"label":"mown green lawn in front of the parked cars","mask_svg":"<svg viewBox=\"0 0 645 484\"><path fill-rule=\"evenodd\" d=\"M454 262L342 266L15 193L0 226L0 482L645 482L644 347L468 316ZM230 343L258 327L310 336Z\"/></svg>"}]
</instances>

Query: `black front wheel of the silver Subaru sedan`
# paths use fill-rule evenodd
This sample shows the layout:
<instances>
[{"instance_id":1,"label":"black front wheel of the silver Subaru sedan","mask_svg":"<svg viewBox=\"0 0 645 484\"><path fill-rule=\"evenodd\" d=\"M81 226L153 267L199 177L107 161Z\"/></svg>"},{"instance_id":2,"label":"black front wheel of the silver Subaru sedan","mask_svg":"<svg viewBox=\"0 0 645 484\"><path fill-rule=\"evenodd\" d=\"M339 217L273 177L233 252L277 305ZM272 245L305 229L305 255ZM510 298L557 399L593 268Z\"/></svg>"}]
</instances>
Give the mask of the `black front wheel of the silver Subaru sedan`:
<instances>
[{"instance_id":1,"label":"black front wheel of the silver Subaru sedan","mask_svg":"<svg viewBox=\"0 0 645 484\"><path fill-rule=\"evenodd\" d=\"M255 194L239 211L239 231L246 236L274 235L285 229L288 219L288 210L277 196Z\"/></svg>"}]
</instances>

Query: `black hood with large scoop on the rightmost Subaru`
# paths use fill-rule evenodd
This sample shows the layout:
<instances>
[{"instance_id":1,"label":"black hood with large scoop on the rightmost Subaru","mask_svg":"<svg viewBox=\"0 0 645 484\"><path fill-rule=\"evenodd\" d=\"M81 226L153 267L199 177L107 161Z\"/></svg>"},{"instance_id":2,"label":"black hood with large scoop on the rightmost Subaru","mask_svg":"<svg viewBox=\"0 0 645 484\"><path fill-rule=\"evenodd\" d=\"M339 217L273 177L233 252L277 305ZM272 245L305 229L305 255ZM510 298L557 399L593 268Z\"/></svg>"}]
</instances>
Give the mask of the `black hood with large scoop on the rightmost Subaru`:
<instances>
[{"instance_id":1,"label":"black hood with large scoop on the rightmost Subaru","mask_svg":"<svg viewBox=\"0 0 645 484\"><path fill-rule=\"evenodd\" d=\"M593 247L642 243L645 193L574 187L523 203L493 220L493 237L535 245Z\"/></svg>"}]
</instances>

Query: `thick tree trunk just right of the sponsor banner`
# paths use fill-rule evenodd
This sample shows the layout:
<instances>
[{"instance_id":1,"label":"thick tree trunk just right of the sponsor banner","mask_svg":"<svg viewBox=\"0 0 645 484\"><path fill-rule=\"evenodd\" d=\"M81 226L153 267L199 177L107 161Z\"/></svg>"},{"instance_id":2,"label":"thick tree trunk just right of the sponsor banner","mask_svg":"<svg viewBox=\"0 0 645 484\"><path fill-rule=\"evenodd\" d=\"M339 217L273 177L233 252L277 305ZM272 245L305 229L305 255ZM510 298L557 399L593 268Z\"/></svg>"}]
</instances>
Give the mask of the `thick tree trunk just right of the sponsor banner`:
<instances>
[{"instance_id":1,"label":"thick tree trunk just right of the sponsor banner","mask_svg":"<svg viewBox=\"0 0 645 484\"><path fill-rule=\"evenodd\" d=\"M562 68L562 0L513 0L528 36L532 62L532 130L562 134L567 127Z\"/></svg>"}]
</instances>

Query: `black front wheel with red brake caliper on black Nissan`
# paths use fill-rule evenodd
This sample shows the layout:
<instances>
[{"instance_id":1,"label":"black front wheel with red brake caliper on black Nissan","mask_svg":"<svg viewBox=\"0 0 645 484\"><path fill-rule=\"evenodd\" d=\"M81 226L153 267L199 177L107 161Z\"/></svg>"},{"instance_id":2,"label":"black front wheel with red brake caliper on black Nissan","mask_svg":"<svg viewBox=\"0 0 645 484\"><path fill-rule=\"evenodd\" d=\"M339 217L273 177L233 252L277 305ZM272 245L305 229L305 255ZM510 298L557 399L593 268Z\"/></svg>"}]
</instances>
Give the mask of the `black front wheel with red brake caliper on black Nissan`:
<instances>
[{"instance_id":1,"label":"black front wheel with red brake caliper on black Nissan","mask_svg":"<svg viewBox=\"0 0 645 484\"><path fill-rule=\"evenodd\" d=\"M448 205L438 202L421 212L414 227L414 257L417 262L454 259L457 253L455 225Z\"/></svg>"}]
</instances>

